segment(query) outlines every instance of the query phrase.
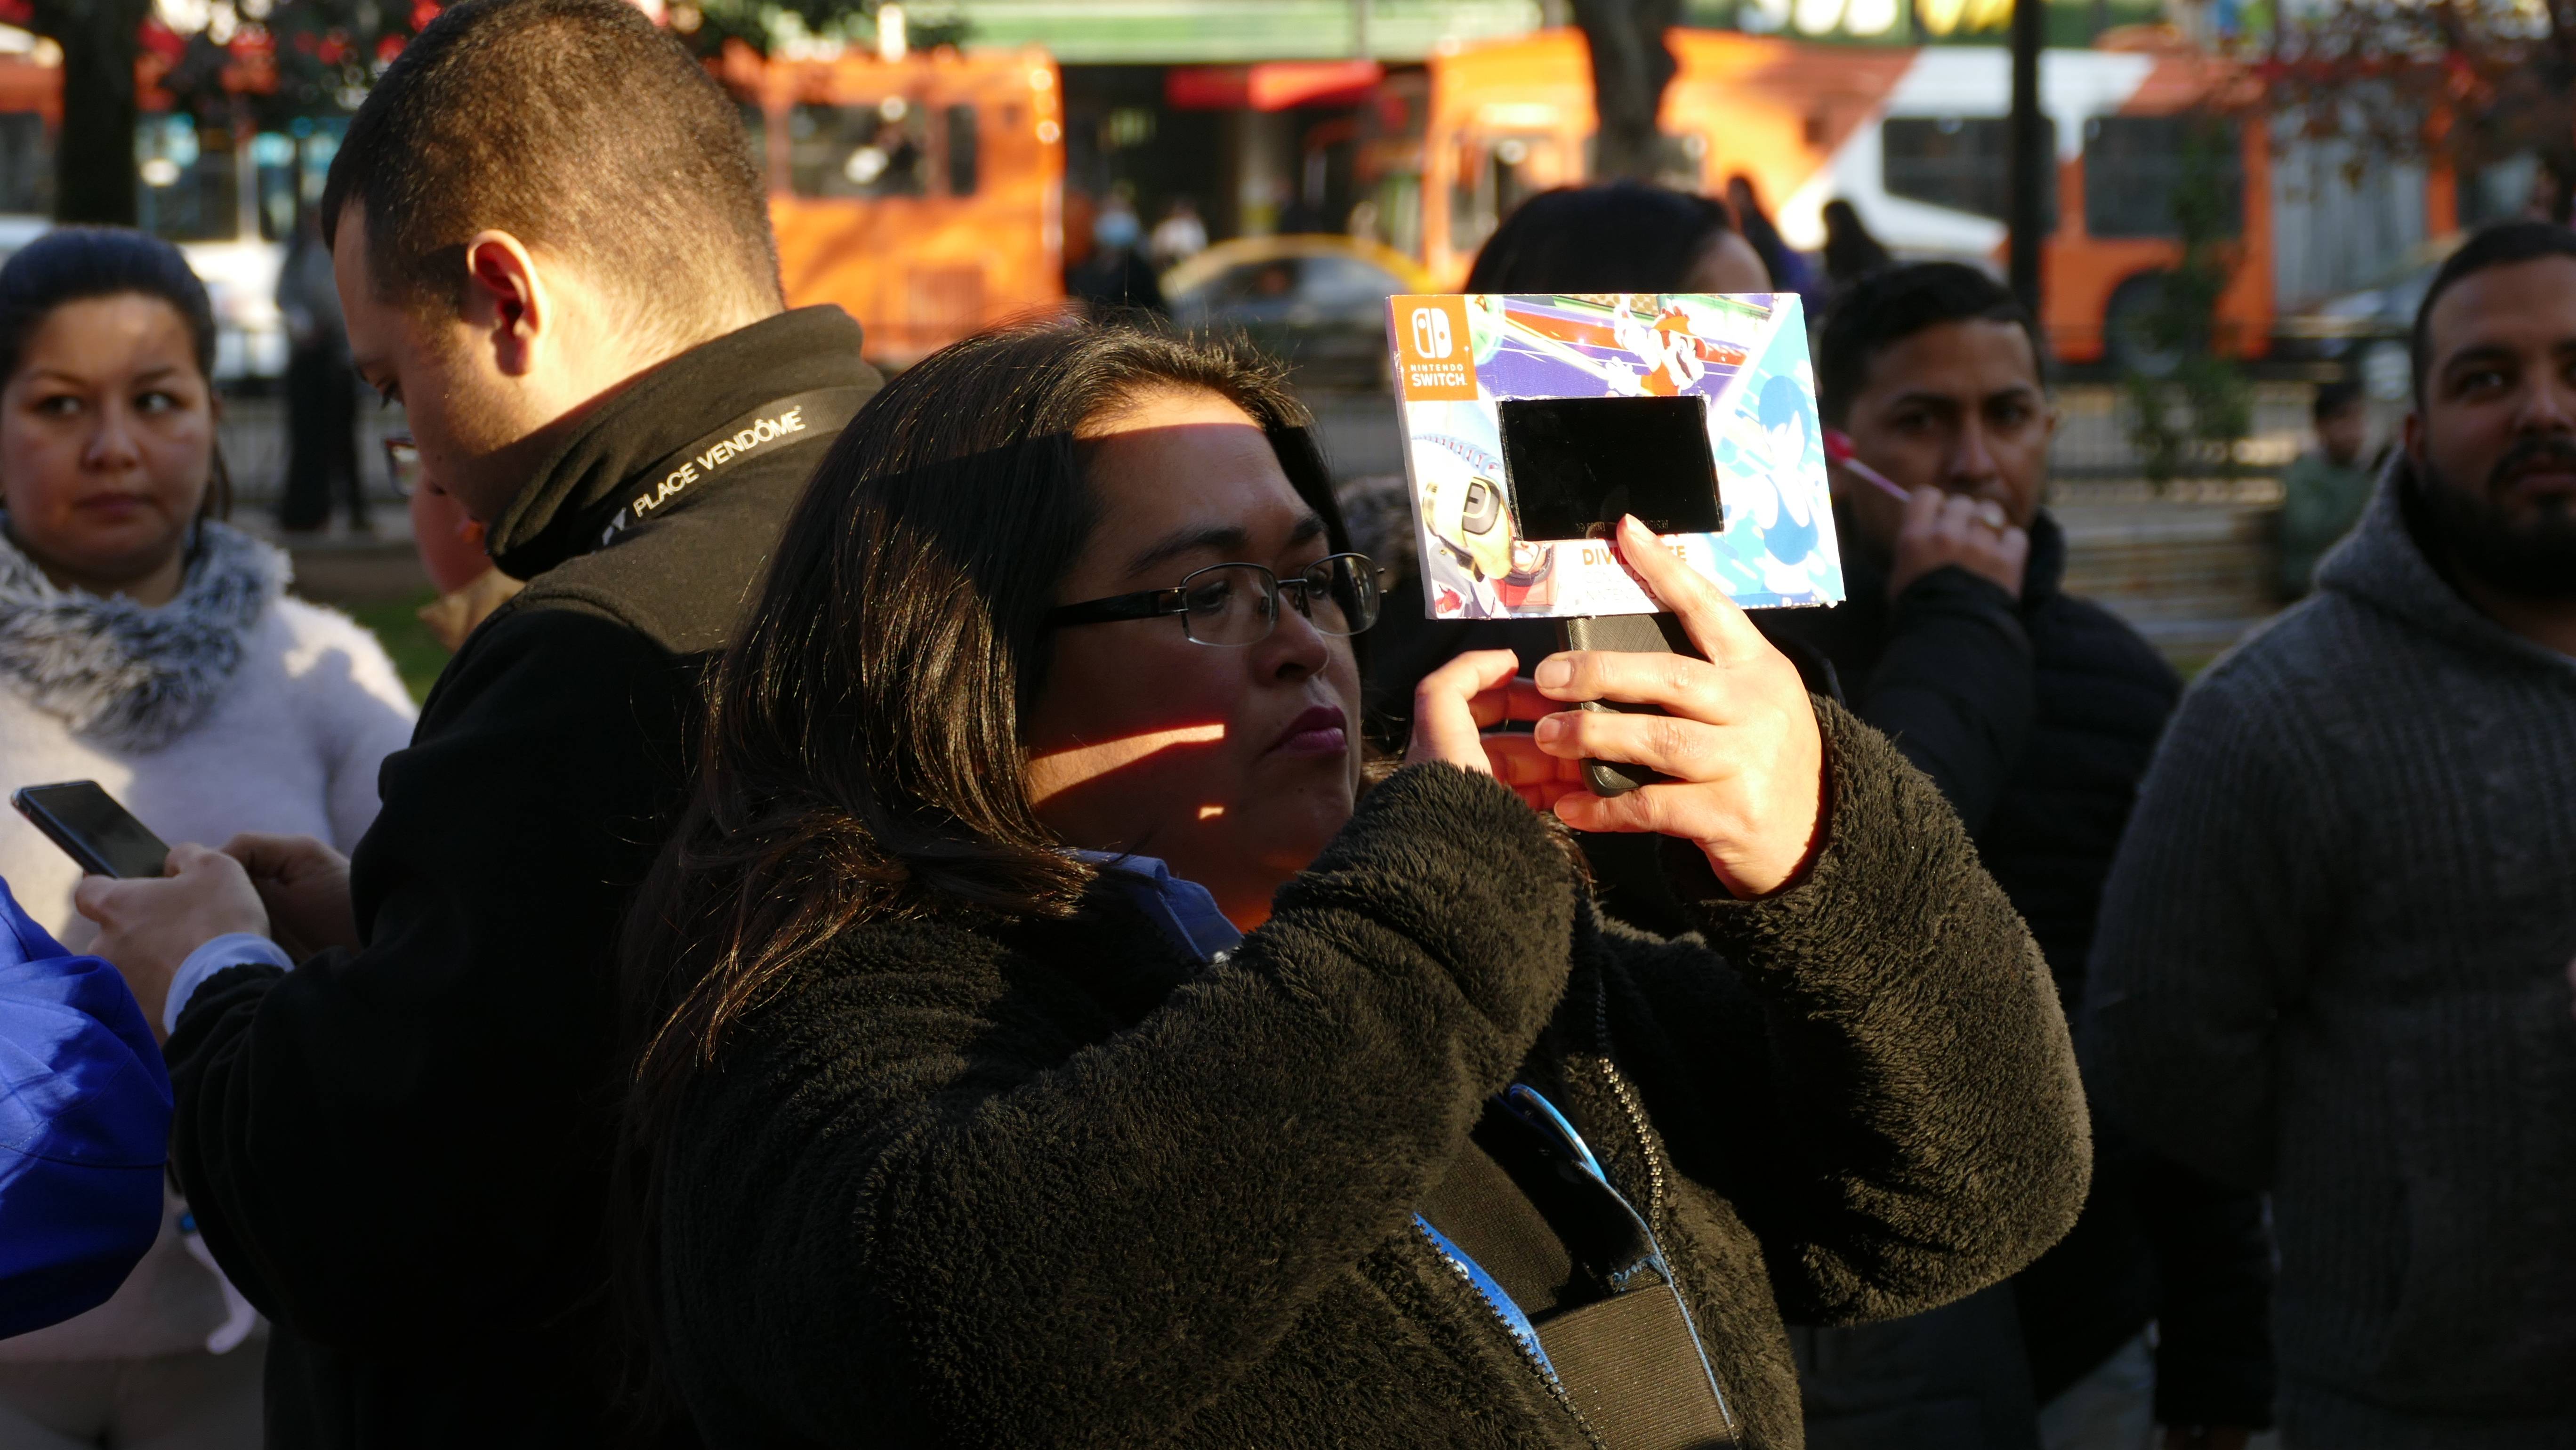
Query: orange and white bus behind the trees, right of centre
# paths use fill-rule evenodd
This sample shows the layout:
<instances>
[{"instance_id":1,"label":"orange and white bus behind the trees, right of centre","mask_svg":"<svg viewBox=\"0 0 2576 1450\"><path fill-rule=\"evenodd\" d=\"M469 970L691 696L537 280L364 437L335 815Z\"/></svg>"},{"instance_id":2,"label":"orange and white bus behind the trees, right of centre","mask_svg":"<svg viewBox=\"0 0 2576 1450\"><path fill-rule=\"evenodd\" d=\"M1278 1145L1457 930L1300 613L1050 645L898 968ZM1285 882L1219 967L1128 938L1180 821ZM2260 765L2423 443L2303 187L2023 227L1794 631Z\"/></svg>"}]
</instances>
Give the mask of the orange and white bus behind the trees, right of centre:
<instances>
[{"instance_id":1,"label":"orange and white bus behind the trees, right of centre","mask_svg":"<svg viewBox=\"0 0 2576 1450\"><path fill-rule=\"evenodd\" d=\"M1716 193L1744 173L1793 247L1824 245L1824 203L1850 201L1899 255L2002 265L2009 52L2002 46L1826 46L1734 31L1669 31L1680 72L1664 93L1682 183ZM2136 49L2043 52L2056 144L2056 227L2043 247L2043 322L2066 361L2117 353L2123 319L2154 306L2182 250L2172 196L2184 126L2231 126L2233 281L2221 345L2259 355L2272 335L2272 155L2244 67L2141 33ZM1533 191L1592 165L1592 82L1579 31L1432 57L1388 77L1381 131L1358 152L1373 229L1455 286L1494 224ZM2437 183L2445 178L2437 178ZM2439 211L2442 188L2429 185ZM2427 216L2432 232L2452 224Z\"/></svg>"}]
</instances>

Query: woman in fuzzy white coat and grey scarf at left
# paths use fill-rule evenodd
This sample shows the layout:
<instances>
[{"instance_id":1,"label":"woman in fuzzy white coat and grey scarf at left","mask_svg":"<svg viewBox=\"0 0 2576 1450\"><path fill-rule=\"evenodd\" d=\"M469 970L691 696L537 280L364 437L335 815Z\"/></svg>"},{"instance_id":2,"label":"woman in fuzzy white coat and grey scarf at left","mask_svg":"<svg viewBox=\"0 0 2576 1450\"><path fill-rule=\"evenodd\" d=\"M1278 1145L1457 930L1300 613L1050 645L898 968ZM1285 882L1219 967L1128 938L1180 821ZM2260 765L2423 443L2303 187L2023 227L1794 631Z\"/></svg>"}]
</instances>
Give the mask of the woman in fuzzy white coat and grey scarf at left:
<instances>
[{"instance_id":1,"label":"woman in fuzzy white coat and grey scarf at left","mask_svg":"<svg viewBox=\"0 0 2576 1450\"><path fill-rule=\"evenodd\" d=\"M167 242L75 227L0 268L0 791L98 780L162 840L348 850L412 703L376 636L219 520L211 363ZM15 814L0 878L72 950L95 932L80 868ZM116 1298L0 1339L0 1450L260 1445L265 1334L165 1210Z\"/></svg>"}]
</instances>

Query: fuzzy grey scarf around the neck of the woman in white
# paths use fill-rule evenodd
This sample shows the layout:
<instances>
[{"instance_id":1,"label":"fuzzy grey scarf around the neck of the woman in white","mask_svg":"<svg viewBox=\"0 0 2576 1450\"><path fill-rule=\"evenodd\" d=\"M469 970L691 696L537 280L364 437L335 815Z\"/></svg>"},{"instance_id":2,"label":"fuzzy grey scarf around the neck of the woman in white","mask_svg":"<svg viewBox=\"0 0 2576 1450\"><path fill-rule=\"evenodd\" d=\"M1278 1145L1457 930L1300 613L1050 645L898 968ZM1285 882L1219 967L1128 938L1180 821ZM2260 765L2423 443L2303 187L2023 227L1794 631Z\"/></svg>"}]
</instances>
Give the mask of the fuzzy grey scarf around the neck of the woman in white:
<instances>
[{"instance_id":1,"label":"fuzzy grey scarf around the neck of the woman in white","mask_svg":"<svg viewBox=\"0 0 2576 1450\"><path fill-rule=\"evenodd\" d=\"M57 587L0 536L0 683L77 737L160 749L224 695L242 641L291 577L283 549L209 520L178 598L147 610L126 595Z\"/></svg>"}]
</instances>

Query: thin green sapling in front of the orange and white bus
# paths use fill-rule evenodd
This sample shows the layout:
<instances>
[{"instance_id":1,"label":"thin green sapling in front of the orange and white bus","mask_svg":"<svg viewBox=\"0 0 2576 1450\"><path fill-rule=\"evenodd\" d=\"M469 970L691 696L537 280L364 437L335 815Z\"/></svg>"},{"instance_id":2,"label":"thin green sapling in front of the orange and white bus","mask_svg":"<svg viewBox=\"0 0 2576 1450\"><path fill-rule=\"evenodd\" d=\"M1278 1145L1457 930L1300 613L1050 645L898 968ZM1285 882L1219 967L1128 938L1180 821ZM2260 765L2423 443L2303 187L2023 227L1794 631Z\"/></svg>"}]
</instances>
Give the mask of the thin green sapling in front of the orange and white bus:
<instances>
[{"instance_id":1,"label":"thin green sapling in front of the orange and white bus","mask_svg":"<svg viewBox=\"0 0 2576 1450\"><path fill-rule=\"evenodd\" d=\"M2174 229L2182 260L2159 276L2154 306L2136 319L2143 353L2166 366L2130 366L2123 394L2128 438L2148 484L2164 489L2184 471L2236 476L2236 443L2254 428L2254 386L2221 355L2218 296L2236 270L2236 198L2228 196L2236 147L2226 124L2192 126L2174 185Z\"/></svg>"}]
</instances>

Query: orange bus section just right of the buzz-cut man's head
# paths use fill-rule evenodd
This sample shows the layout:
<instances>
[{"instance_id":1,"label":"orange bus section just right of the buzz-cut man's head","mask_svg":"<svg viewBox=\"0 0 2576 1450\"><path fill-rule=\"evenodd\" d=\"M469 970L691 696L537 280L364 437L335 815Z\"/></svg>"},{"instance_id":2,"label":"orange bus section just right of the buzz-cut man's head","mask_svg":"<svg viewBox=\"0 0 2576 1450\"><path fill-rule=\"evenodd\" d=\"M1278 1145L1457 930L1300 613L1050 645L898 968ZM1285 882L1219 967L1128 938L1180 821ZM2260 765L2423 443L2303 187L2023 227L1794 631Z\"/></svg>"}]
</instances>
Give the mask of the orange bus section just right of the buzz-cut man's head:
<instances>
[{"instance_id":1,"label":"orange bus section just right of the buzz-cut man's head","mask_svg":"<svg viewBox=\"0 0 2576 1450\"><path fill-rule=\"evenodd\" d=\"M1064 98L1043 49L762 59L719 75L770 178L788 304L835 301L912 363L1064 301Z\"/></svg>"}]
</instances>

